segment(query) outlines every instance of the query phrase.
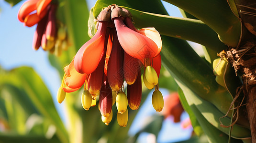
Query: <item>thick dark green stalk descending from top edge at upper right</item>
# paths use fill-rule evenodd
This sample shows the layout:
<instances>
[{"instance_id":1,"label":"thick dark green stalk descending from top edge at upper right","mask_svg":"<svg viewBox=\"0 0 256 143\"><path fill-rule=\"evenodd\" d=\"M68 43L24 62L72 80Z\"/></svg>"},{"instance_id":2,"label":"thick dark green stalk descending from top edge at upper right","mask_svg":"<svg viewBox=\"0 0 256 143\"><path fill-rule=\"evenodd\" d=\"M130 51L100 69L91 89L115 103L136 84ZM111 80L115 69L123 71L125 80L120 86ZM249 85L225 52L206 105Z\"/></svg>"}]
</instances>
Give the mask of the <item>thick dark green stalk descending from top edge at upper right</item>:
<instances>
[{"instance_id":1,"label":"thick dark green stalk descending from top edge at upper right","mask_svg":"<svg viewBox=\"0 0 256 143\"><path fill-rule=\"evenodd\" d=\"M240 41L242 24L234 15L226 0L165 0L189 12L211 27L220 40L236 47Z\"/></svg>"}]
</instances>

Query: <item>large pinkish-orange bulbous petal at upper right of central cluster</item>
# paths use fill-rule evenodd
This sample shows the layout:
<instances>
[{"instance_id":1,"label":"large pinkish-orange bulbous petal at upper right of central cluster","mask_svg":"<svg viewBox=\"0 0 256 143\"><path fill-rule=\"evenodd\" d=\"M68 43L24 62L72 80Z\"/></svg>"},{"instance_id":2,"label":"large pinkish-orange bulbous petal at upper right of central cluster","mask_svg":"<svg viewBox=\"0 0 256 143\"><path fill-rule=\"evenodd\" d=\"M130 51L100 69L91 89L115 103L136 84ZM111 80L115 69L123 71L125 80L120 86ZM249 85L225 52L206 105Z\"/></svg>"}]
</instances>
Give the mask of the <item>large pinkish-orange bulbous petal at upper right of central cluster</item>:
<instances>
[{"instance_id":1,"label":"large pinkish-orange bulbous petal at upper right of central cluster","mask_svg":"<svg viewBox=\"0 0 256 143\"><path fill-rule=\"evenodd\" d=\"M114 19L118 40L129 55L137 59L153 58L159 53L158 46L150 38L126 27L121 17Z\"/></svg>"}]
</instances>

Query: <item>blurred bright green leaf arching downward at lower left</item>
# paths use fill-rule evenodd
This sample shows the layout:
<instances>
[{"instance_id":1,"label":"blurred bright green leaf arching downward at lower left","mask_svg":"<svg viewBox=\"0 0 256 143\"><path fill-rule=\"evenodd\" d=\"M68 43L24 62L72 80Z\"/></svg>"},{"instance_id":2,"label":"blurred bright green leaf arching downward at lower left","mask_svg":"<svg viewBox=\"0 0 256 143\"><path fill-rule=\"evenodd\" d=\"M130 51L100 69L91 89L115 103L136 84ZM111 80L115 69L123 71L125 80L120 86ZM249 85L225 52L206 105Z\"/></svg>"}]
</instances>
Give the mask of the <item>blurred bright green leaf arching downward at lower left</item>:
<instances>
[{"instance_id":1,"label":"blurred bright green leaf arching downward at lower left","mask_svg":"<svg viewBox=\"0 0 256 143\"><path fill-rule=\"evenodd\" d=\"M0 79L0 85L11 84L20 90L22 89L36 110L56 126L56 134L62 142L68 141L66 128L56 111L51 94L32 68L20 67L10 72L1 71Z\"/></svg>"}]
</instances>

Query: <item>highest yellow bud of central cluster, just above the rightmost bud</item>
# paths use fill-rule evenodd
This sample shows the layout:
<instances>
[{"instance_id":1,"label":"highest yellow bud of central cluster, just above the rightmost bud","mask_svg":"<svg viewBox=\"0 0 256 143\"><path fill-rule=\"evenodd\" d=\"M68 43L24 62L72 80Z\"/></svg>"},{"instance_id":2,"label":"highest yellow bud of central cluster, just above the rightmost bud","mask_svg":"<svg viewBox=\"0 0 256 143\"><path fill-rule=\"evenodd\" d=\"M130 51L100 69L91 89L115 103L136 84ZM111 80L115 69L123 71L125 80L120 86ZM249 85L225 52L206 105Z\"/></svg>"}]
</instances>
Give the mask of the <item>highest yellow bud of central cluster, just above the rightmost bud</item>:
<instances>
[{"instance_id":1,"label":"highest yellow bud of central cluster, just above the rightmost bud","mask_svg":"<svg viewBox=\"0 0 256 143\"><path fill-rule=\"evenodd\" d=\"M147 66L145 69L145 78L150 84L156 85L158 83L158 76L155 69L151 66Z\"/></svg>"}]
</instances>

